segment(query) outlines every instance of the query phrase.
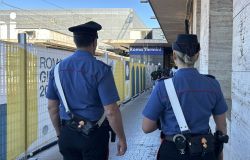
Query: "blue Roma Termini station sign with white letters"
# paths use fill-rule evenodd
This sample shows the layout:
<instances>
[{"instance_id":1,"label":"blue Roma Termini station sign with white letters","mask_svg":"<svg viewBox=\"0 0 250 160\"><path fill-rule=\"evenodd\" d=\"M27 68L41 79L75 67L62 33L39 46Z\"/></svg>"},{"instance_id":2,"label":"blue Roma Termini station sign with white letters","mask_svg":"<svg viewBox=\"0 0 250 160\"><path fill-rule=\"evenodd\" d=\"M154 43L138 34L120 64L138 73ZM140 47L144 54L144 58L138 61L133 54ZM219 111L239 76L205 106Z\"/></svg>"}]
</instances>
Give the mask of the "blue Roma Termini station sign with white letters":
<instances>
[{"instance_id":1,"label":"blue Roma Termini station sign with white letters","mask_svg":"<svg viewBox=\"0 0 250 160\"><path fill-rule=\"evenodd\" d=\"M130 47L130 55L163 55L162 47Z\"/></svg>"}]
</instances>

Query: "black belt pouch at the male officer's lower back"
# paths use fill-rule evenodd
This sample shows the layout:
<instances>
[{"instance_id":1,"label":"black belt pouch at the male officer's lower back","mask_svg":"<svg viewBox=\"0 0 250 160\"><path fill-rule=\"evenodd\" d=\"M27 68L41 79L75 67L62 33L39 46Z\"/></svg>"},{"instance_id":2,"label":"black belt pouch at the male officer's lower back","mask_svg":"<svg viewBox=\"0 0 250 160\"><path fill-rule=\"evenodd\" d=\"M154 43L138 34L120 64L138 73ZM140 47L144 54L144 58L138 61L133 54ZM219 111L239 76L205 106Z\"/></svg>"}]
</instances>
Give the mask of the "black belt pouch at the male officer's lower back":
<instances>
[{"instance_id":1,"label":"black belt pouch at the male officer's lower back","mask_svg":"<svg viewBox=\"0 0 250 160\"><path fill-rule=\"evenodd\" d=\"M97 122L74 119L62 120L62 125L79 132L84 137L91 136L99 128Z\"/></svg>"}]
</instances>

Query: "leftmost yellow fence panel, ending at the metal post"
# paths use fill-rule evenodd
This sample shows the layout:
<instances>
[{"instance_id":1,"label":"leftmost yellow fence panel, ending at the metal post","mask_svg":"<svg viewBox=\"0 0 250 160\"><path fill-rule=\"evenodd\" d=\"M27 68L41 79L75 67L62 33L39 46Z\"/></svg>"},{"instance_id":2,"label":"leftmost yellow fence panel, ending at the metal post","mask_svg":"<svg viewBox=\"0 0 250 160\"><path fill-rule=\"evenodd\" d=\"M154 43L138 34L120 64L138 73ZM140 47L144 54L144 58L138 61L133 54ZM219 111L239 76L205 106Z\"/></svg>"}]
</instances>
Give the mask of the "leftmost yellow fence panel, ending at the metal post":
<instances>
[{"instance_id":1,"label":"leftmost yellow fence panel, ending at the metal post","mask_svg":"<svg viewBox=\"0 0 250 160\"><path fill-rule=\"evenodd\" d=\"M14 159L25 151L22 52L17 46L7 47L7 159Z\"/></svg>"}]
</instances>

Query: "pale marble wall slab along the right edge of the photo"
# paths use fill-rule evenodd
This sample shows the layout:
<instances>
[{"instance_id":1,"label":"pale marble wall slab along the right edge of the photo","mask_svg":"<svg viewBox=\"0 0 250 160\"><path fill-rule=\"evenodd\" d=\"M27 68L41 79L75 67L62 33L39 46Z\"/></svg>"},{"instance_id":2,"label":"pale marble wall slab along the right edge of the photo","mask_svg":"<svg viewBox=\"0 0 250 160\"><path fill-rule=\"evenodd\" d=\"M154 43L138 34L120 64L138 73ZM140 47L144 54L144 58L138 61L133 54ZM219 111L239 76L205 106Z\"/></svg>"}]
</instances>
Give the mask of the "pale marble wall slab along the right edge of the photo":
<instances>
[{"instance_id":1,"label":"pale marble wall slab along the right edge of the photo","mask_svg":"<svg viewBox=\"0 0 250 160\"><path fill-rule=\"evenodd\" d=\"M233 1L231 160L250 159L250 0Z\"/></svg>"}]
</instances>

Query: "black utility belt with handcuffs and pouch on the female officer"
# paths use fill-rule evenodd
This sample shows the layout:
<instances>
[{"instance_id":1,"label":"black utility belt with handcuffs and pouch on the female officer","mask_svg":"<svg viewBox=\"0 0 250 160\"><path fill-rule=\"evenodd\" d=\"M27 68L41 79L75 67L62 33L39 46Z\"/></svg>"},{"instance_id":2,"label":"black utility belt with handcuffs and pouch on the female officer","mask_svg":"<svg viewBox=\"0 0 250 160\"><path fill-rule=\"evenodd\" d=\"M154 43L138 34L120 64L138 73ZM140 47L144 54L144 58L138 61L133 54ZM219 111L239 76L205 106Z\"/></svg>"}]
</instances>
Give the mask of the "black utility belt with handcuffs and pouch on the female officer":
<instances>
[{"instance_id":1,"label":"black utility belt with handcuffs and pouch on the female officer","mask_svg":"<svg viewBox=\"0 0 250 160\"><path fill-rule=\"evenodd\" d=\"M191 156L205 155L215 151L215 138L212 134L166 136L165 140L174 142L181 154L188 150Z\"/></svg>"}]
</instances>

